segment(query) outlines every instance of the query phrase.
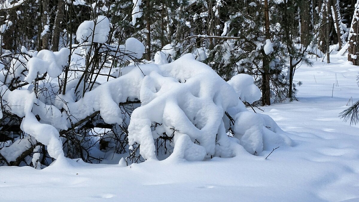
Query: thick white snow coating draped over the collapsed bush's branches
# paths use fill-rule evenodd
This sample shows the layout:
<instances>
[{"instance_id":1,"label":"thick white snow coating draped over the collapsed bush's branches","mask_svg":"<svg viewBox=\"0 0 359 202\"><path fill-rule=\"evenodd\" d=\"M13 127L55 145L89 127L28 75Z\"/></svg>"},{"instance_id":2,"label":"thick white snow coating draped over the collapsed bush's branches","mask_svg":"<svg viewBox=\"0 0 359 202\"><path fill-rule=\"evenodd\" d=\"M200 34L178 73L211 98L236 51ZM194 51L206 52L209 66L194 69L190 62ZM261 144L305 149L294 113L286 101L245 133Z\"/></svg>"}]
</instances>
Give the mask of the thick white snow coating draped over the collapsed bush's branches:
<instances>
[{"instance_id":1,"label":"thick white snow coating draped over the collapsed bush's branches","mask_svg":"<svg viewBox=\"0 0 359 202\"><path fill-rule=\"evenodd\" d=\"M103 44L99 51L120 55L123 61L141 58L144 46L135 38L127 39L125 46L104 44L108 31L109 22L104 16L82 23L76 32L80 44L74 46L71 55L76 64L70 65L85 65L85 58L79 53L89 53L89 40ZM0 80L6 83L9 79L21 79L26 81L25 87L11 91L1 85L2 103L6 112L22 118L21 130L46 145L52 158L64 155L59 131L73 130L94 114L107 124L120 125L127 134L127 150L139 151L144 160L158 159L155 140L159 138L164 140L166 157L169 140L170 158L190 161L234 157L244 149L260 154L291 144L270 117L244 106L242 101L252 103L261 95L251 76L240 74L226 82L192 54L171 63L123 67L116 72L117 78L94 86L82 97L76 95L80 82L75 78L75 82L67 83L64 95L43 98L35 93L36 79L61 76L70 51L62 48L59 52L30 52L22 48L22 52L26 54L15 58L9 70L2 70L4 75L13 76ZM133 101L141 105L134 109L128 122L120 105ZM123 129L127 124L128 130Z\"/></svg>"}]
</instances>

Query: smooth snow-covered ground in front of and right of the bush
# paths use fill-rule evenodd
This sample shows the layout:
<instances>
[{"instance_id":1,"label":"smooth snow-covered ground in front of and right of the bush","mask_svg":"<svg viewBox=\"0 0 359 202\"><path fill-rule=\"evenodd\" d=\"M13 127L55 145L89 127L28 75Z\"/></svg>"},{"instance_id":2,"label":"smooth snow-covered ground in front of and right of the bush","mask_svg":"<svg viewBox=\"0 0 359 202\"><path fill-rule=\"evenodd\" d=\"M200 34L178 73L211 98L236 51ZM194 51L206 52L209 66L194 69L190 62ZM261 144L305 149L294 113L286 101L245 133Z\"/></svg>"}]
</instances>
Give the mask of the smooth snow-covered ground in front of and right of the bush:
<instances>
[{"instance_id":1,"label":"smooth snow-covered ground in front of and right of the bush","mask_svg":"<svg viewBox=\"0 0 359 202\"><path fill-rule=\"evenodd\" d=\"M43 170L2 166L0 201L359 201L358 126L339 118L359 99L359 68L331 60L295 72L299 101L262 108L294 142L267 160L264 151L127 167L69 159Z\"/></svg>"}]
</instances>

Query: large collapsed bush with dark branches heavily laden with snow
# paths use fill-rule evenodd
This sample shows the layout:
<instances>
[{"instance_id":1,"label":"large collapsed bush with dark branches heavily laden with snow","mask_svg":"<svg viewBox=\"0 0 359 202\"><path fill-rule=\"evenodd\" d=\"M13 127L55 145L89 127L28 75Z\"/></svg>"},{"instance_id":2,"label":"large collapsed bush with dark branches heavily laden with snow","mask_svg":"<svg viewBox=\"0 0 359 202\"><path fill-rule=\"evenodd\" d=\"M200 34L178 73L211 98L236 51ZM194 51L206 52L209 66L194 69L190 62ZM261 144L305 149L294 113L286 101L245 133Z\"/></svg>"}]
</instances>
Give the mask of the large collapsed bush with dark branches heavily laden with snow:
<instances>
[{"instance_id":1,"label":"large collapsed bush with dark branches heavily laden with snow","mask_svg":"<svg viewBox=\"0 0 359 202\"><path fill-rule=\"evenodd\" d=\"M3 163L40 168L61 156L198 161L290 144L270 117L242 103L260 98L251 76L226 82L191 54L126 66L144 46L134 38L106 44L108 23L103 16L84 22L80 43L59 52L11 55L0 77Z\"/></svg>"}]
</instances>

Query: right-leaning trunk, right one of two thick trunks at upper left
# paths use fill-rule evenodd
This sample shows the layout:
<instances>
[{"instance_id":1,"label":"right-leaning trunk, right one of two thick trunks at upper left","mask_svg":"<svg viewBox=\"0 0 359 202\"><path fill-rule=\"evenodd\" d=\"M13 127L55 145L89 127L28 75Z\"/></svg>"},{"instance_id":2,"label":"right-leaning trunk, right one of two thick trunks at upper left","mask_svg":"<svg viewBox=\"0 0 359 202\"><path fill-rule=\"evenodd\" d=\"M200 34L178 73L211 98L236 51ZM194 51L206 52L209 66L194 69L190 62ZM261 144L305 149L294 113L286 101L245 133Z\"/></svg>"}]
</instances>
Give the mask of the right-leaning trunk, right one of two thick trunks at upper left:
<instances>
[{"instance_id":1,"label":"right-leaning trunk, right one of two thick trunks at upper left","mask_svg":"<svg viewBox=\"0 0 359 202\"><path fill-rule=\"evenodd\" d=\"M58 0L58 2L59 2L59 4L57 5L57 13L56 13L56 18L55 18L55 23L53 25L53 32L52 32L52 39L51 39L51 43L52 43L51 51L53 51L53 52L59 51L59 42L60 42L60 33L61 33L60 23L64 19L65 1Z\"/></svg>"}]
</instances>

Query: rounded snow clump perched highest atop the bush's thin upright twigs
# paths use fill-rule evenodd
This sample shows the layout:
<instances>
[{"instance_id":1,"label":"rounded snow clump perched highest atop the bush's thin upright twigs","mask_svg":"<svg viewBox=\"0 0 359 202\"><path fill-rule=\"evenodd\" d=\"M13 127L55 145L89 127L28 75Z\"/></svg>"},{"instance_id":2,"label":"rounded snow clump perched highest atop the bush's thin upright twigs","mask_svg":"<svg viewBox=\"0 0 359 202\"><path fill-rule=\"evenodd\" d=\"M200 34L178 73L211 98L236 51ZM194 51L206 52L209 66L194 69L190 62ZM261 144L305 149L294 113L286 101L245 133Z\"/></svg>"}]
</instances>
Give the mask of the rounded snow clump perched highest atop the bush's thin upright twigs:
<instances>
[{"instance_id":1,"label":"rounded snow clump perched highest atop the bush's thin upright twigs","mask_svg":"<svg viewBox=\"0 0 359 202\"><path fill-rule=\"evenodd\" d=\"M99 15L95 20L81 23L76 31L76 40L79 43L95 42L105 43L110 31L109 20L106 16Z\"/></svg>"}]
</instances>

